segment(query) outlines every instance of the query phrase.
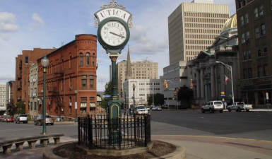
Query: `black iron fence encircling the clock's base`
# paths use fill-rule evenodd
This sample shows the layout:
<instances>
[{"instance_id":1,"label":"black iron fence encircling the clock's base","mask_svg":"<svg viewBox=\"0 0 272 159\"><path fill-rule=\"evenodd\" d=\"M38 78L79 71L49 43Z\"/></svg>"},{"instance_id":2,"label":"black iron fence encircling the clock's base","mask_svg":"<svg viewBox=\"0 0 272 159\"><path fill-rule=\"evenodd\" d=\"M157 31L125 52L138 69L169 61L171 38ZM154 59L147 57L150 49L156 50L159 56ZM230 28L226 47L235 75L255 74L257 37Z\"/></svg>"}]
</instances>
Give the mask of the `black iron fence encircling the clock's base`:
<instances>
[{"instance_id":1,"label":"black iron fence encircling the clock's base","mask_svg":"<svg viewBox=\"0 0 272 159\"><path fill-rule=\"evenodd\" d=\"M89 149L126 149L147 146L150 136L150 114L123 115L111 119L105 114L78 117L78 145Z\"/></svg>"}]
</instances>

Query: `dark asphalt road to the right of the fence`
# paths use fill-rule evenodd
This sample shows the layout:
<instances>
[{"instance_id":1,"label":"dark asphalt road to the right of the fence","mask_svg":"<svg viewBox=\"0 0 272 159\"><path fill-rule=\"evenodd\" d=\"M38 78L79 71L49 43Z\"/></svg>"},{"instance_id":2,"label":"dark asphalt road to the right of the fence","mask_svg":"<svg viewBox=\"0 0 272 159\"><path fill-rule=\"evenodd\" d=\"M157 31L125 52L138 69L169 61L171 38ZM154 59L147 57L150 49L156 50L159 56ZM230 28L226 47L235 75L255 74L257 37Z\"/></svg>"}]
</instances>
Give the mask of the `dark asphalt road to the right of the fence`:
<instances>
[{"instance_id":1,"label":"dark asphalt road to the right of the fence","mask_svg":"<svg viewBox=\"0 0 272 159\"><path fill-rule=\"evenodd\" d=\"M272 112L151 112L152 134L221 136L272 141Z\"/></svg>"}]
</instances>

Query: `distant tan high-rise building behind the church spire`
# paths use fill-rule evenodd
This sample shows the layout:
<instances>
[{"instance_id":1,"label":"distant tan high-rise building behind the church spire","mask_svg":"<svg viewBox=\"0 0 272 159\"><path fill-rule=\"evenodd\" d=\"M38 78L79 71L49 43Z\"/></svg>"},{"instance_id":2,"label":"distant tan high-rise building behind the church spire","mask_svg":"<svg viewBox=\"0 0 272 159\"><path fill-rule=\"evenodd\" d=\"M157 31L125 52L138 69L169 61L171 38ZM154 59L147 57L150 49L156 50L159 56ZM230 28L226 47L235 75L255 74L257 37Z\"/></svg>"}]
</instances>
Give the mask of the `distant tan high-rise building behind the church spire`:
<instances>
[{"instance_id":1,"label":"distant tan high-rise building behind the church spire","mask_svg":"<svg viewBox=\"0 0 272 159\"><path fill-rule=\"evenodd\" d=\"M130 64L130 66L127 66L127 64ZM127 69L131 70L128 71ZM117 64L119 100L123 98L122 85L128 79L158 79L158 62L130 61L128 50L128 61L123 60Z\"/></svg>"}]
</instances>

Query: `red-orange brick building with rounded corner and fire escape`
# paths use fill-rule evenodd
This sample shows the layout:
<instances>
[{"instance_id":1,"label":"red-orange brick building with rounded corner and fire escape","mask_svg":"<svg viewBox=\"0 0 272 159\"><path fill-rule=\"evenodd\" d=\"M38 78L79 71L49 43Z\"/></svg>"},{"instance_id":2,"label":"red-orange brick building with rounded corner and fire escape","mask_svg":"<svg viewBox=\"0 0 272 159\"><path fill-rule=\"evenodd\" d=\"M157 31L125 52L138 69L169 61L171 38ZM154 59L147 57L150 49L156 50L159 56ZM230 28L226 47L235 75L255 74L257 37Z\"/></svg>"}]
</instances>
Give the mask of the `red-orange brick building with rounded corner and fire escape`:
<instances>
[{"instance_id":1,"label":"red-orange brick building with rounded corner and fire escape","mask_svg":"<svg viewBox=\"0 0 272 159\"><path fill-rule=\"evenodd\" d=\"M42 97L46 92L46 113L52 117L74 119L77 101L78 114L81 112L96 114L96 35L76 35L76 40L47 54L49 66L46 73L46 90L43 90L41 59L42 56L37 59L37 98L44 100ZM38 110L40 109L42 102L38 103Z\"/></svg>"}]
</instances>

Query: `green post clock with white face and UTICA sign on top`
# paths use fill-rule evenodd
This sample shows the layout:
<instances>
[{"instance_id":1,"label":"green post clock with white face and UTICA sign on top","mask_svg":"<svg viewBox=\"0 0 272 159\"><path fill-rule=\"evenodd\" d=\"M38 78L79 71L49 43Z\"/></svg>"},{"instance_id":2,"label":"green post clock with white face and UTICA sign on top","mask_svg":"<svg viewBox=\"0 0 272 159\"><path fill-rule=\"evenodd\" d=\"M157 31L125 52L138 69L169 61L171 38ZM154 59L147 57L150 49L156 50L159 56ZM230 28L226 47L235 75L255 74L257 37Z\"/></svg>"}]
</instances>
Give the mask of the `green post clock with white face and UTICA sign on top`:
<instances>
[{"instance_id":1,"label":"green post clock with white face and UTICA sign on top","mask_svg":"<svg viewBox=\"0 0 272 159\"><path fill-rule=\"evenodd\" d=\"M97 40L100 45L110 53L112 61L112 92L109 104L109 144L118 144L122 142L121 136L121 102L118 98L117 89L117 70L116 61L118 53L121 54L122 49L129 42L130 32L132 27L132 15L126 11L124 6L117 4L112 0L109 4L101 6L101 10L95 13L95 27L97 29Z\"/></svg>"}]
</instances>

